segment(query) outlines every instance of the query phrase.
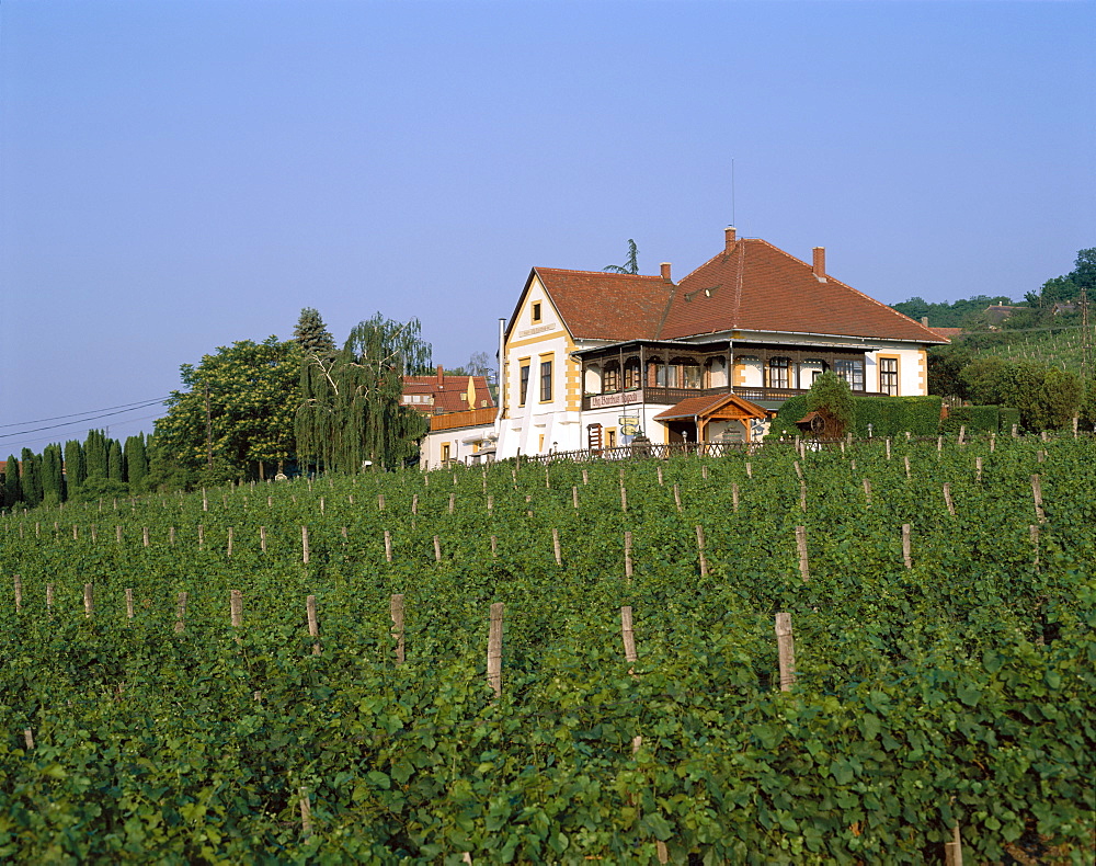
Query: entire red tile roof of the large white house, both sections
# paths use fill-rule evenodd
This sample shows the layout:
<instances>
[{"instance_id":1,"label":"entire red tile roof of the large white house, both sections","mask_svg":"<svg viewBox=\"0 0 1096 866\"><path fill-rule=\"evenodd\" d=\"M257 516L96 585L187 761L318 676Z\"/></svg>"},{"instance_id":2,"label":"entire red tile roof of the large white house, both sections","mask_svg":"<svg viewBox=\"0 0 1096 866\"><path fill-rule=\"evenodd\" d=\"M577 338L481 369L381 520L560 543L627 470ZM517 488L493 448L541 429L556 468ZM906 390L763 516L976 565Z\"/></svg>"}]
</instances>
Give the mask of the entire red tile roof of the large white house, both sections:
<instances>
[{"instance_id":1,"label":"entire red tile roof of the large white house, both sections","mask_svg":"<svg viewBox=\"0 0 1096 866\"><path fill-rule=\"evenodd\" d=\"M947 340L829 274L820 281L812 265L760 239L732 241L677 285L661 276L533 270L576 339L681 340L741 330Z\"/></svg>"}]
</instances>

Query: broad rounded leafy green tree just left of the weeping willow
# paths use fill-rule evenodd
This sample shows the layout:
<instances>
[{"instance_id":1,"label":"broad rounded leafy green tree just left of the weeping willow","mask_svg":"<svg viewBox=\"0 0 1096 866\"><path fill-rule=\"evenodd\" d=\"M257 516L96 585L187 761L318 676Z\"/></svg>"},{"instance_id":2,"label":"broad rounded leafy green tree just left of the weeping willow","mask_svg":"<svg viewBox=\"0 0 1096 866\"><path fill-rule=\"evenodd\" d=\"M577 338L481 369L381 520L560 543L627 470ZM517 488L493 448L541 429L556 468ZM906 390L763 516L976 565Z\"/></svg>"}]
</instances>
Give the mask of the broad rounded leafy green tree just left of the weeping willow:
<instances>
[{"instance_id":1,"label":"broad rounded leafy green tree just left of the weeping willow","mask_svg":"<svg viewBox=\"0 0 1096 866\"><path fill-rule=\"evenodd\" d=\"M270 337L183 364L186 390L171 392L168 414L156 422L159 456L176 460L187 483L265 478L267 467L294 458L300 362L296 341Z\"/></svg>"}]
</instances>

